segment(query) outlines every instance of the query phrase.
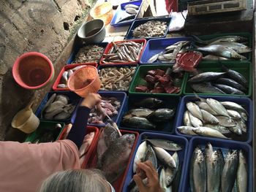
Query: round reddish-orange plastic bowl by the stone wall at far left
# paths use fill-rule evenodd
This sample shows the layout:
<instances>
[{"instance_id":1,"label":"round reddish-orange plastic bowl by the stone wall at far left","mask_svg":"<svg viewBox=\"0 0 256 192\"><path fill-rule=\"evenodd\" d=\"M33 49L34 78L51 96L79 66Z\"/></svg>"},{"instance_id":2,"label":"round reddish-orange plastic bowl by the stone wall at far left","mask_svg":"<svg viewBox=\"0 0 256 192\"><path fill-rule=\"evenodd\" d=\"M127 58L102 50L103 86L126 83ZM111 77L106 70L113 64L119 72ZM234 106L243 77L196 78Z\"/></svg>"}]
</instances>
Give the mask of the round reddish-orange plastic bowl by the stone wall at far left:
<instances>
[{"instance_id":1,"label":"round reddish-orange plastic bowl by the stone wall at far left","mask_svg":"<svg viewBox=\"0 0 256 192\"><path fill-rule=\"evenodd\" d=\"M53 80L54 68L50 59L42 53L29 52L20 55L12 66L15 81L26 89L39 89Z\"/></svg>"}]
</instances>

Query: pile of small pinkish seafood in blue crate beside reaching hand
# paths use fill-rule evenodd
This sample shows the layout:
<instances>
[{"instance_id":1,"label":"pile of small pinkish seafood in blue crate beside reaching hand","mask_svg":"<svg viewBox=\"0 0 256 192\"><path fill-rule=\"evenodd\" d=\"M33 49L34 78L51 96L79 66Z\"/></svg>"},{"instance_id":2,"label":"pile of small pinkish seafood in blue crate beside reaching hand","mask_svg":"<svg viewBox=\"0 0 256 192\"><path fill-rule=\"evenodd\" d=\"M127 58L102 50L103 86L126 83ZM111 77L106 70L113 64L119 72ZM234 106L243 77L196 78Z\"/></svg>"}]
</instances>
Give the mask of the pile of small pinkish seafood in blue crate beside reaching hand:
<instances>
[{"instance_id":1,"label":"pile of small pinkish seafood in blue crate beside reaching hand","mask_svg":"<svg viewBox=\"0 0 256 192\"><path fill-rule=\"evenodd\" d=\"M113 117L118 114L121 102L115 97L102 98L97 106L91 109L88 123L105 125L106 115Z\"/></svg>"}]
</instances>

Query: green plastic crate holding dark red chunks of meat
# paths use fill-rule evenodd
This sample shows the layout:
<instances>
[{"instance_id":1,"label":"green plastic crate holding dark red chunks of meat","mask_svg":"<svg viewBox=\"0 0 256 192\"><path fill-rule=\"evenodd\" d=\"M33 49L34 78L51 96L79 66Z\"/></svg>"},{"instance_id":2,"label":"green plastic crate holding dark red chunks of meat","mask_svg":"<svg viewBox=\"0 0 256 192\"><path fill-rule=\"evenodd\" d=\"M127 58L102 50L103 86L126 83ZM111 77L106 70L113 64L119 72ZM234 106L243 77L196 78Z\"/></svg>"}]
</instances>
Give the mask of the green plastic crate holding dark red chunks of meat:
<instances>
[{"instance_id":1,"label":"green plastic crate holding dark red chunks of meat","mask_svg":"<svg viewBox=\"0 0 256 192\"><path fill-rule=\"evenodd\" d=\"M132 84L129 86L129 94L140 94L140 95L143 94L143 95L148 95L148 96L154 96L154 95L181 96L181 93L184 88L185 75L187 75L187 74L184 74L184 77L182 78L180 84L178 85L181 88L181 91L179 93L141 93L141 92L135 91L136 86L147 85L148 82L146 82L146 80L144 80L144 78L146 77L146 74L149 70L162 69L162 70L166 71L167 68L173 69L173 65L143 65L143 66L139 66L135 73L135 76L133 77Z\"/></svg>"}]
</instances>

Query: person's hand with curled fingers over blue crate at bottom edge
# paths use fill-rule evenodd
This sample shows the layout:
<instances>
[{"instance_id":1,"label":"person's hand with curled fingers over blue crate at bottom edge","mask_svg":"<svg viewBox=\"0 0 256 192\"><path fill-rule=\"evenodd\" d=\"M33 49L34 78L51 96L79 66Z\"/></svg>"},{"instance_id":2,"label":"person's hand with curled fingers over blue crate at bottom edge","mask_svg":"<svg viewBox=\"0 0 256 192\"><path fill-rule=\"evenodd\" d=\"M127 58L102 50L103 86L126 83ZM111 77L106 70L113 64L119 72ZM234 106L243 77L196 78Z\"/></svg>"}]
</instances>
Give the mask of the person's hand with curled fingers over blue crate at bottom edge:
<instances>
[{"instance_id":1,"label":"person's hand with curled fingers over blue crate at bottom edge","mask_svg":"<svg viewBox=\"0 0 256 192\"><path fill-rule=\"evenodd\" d=\"M157 170L154 169L151 161L138 163L136 174L133 176L136 185L140 192L162 192L162 188L159 184ZM146 175L145 175L146 174ZM147 177L148 183L144 185L143 179Z\"/></svg>"}]
</instances>

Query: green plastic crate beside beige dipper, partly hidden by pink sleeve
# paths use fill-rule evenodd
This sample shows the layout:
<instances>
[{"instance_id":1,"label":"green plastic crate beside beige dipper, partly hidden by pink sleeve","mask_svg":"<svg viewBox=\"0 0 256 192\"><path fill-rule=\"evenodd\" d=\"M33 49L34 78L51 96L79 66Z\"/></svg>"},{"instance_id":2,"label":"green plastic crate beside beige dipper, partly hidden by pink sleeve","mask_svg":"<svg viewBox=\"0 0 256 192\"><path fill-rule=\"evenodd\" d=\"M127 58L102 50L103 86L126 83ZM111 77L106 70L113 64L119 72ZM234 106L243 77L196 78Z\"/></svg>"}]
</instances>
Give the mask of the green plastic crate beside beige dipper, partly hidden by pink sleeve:
<instances>
[{"instance_id":1,"label":"green plastic crate beside beige dipper, partly hidden by pink sleeve","mask_svg":"<svg viewBox=\"0 0 256 192\"><path fill-rule=\"evenodd\" d=\"M61 124L61 128L55 128L56 124ZM53 131L53 137L56 140L59 140L61 133L64 129L65 123L62 122L53 122L48 120L40 120L39 126L36 131L32 132L31 134L26 137L24 142L37 142L37 139L42 137L43 134Z\"/></svg>"}]
</instances>

